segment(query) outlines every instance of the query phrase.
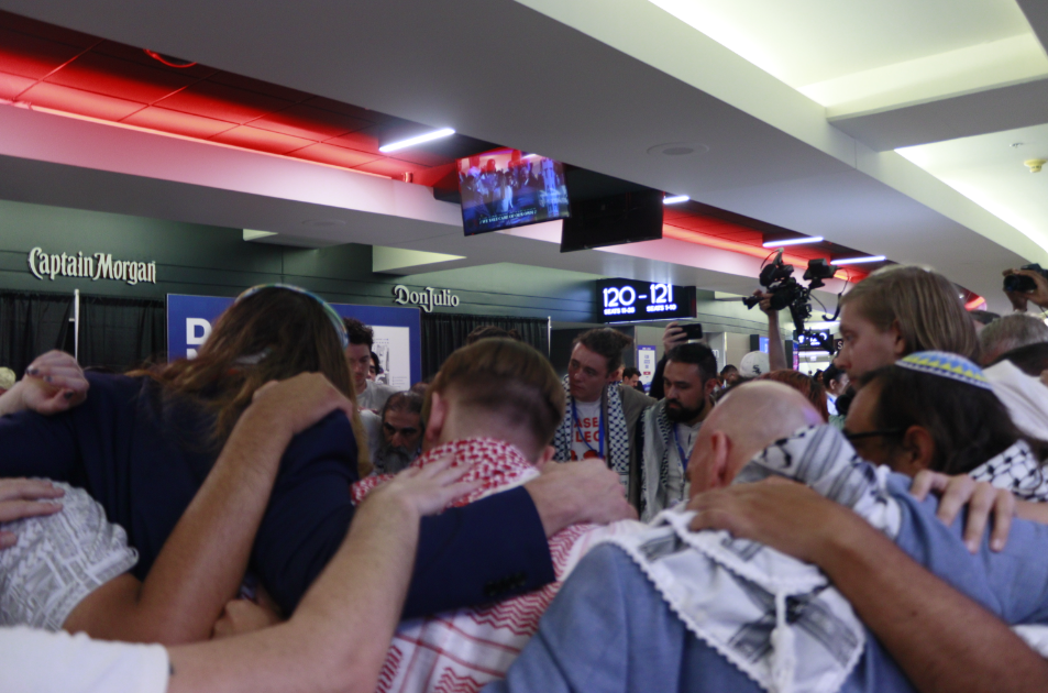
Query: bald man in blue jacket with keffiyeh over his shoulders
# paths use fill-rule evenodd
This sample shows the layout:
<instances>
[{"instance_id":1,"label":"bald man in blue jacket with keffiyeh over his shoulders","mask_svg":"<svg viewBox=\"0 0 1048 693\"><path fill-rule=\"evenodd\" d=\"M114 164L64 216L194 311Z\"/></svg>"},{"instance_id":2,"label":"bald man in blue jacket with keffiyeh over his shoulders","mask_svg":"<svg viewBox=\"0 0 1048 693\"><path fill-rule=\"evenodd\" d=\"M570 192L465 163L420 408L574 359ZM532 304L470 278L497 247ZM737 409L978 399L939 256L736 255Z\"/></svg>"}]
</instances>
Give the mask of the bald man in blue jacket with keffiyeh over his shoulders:
<instances>
[{"instance_id":1,"label":"bald man in blue jacket with keffiyeh over his shoulders","mask_svg":"<svg viewBox=\"0 0 1048 693\"><path fill-rule=\"evenodd\" d=\"M854 458L839 431L821 425L807 399L782 384L743 385L722 399L703 426L688 474L693 496L769 476L804 481L863 515L989 612L1010 624L1048 623L1048 551L1034 550L1048 546L1048 527L1014 520L1003 552L991 552L983 541L972 556L960 519L950 527L940 522L937 502L911 497L908 479L893 475L885 483ZM687 532L691 516L679 509L661 517L662 527L657 518L633 544L614 540L594 548L564 583L506 680L485 691L872 693L911 692L911 679L922 680L914 668L930 663L914 663L893 650L907 664L904 672L814 566L722 534ZM708 560L718 553L719 566ZM771 574L762 573L768 566ZM809 591L795 587L794 596L781 600L779 593L790 588L783 585L791 583L807 584ZM747 609L759 617L730 618ZM980 614L1000 623L986 610ZM915 613L906 627L925 628L924 637L934 641L937 628L941 634L945 627L974 623L930 625Z\"/></svg>"}]
</instances>

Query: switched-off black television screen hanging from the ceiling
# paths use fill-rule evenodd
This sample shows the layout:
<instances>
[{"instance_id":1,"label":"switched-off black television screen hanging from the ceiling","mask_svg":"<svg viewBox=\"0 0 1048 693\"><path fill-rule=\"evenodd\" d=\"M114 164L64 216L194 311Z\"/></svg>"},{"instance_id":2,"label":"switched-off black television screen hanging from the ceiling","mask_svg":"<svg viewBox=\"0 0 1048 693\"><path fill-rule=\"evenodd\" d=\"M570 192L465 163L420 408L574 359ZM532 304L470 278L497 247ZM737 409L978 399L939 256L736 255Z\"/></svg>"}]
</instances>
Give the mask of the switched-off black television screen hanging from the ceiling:
<instances>
[{"instance_id":1,"label":"switched-off black television screen hanging from the ceiling","mask_svg":"<svg viewBox=\"0 0 1048 693\"><path fill-rule=\"evenodd\" d=\"M661 190L573 167L567 187L572 216L564 220L562 253L662 238Z\"/></svg>"}]
</instances>

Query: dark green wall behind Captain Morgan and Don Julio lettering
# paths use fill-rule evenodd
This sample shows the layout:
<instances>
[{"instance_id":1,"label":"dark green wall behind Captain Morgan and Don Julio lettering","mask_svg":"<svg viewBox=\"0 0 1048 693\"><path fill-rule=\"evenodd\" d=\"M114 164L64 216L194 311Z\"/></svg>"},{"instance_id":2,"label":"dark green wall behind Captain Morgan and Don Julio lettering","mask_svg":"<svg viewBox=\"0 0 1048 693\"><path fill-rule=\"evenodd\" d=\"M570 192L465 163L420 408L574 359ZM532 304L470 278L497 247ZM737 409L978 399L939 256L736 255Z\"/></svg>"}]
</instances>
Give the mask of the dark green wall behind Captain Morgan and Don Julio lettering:
<instances>
[{"instance_id":1,"label":"dark green wall behind Captain Morgan and Don Julio lettering","mask_svg":"<svg viewBox=\"0 0 1048 693\"><path fill-rule=\"evenodd\" d=\"M111 279L37 279L27 257L46 253L112 254L113 260L156 262L157 283L130 286ZM145 219L0 200L0 288L163 299L167 294L235 296L255 284L283 282L334 302L394 306L393 287L451 289L454 308L434 312L589 321L592 280L578 273L509 263L420 273L374 274L372 249L349 243L304 250L249 243L240 229Z\"/></svg>"}]
</instances>

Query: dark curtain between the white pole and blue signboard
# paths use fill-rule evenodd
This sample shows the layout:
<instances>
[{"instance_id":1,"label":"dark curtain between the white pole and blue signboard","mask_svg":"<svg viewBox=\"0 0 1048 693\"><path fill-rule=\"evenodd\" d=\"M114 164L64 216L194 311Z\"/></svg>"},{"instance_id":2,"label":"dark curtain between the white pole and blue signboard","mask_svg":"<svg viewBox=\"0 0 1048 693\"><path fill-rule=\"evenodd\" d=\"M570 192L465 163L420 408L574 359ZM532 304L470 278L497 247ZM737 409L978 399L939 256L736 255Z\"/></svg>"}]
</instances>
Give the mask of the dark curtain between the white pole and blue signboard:
<instances>
[{"instance_id":1,"label":"dark curtain between the white pole and blue signboard","mask_svg":"<svg viewBox=\"0 0 1048 693\"><path fill-rule=\"evenodd\" d=\"M80 296L80 365L122 373L167 359L163 300Z\"/></svg>"}]
</instances>

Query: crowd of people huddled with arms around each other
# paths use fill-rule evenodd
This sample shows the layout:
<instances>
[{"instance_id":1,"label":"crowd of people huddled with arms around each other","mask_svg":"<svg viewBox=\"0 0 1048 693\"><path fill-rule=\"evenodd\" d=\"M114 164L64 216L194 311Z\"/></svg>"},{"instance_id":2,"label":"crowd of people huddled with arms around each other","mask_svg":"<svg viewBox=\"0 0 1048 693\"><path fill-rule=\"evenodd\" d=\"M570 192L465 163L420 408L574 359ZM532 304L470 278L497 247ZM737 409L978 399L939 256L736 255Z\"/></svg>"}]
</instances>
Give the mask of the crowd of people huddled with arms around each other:
<instances>
[{"instance_id":1,"label":"crowd of people huddled with arms around each other","mask_svg":"<svg viewBox=\"0 0 1048 693\"><path fill-rule=\"evenodd\" d=\"M4 691L1048 690L1048 280L843 295L818 377L671 323L428 381L254 287L192 360L0 386ZM776 343L777 341L777 343Z\"/></svg>"}]
</instances>

